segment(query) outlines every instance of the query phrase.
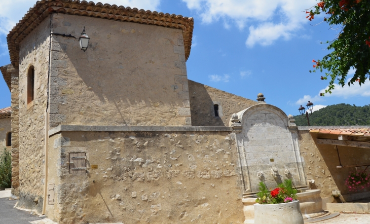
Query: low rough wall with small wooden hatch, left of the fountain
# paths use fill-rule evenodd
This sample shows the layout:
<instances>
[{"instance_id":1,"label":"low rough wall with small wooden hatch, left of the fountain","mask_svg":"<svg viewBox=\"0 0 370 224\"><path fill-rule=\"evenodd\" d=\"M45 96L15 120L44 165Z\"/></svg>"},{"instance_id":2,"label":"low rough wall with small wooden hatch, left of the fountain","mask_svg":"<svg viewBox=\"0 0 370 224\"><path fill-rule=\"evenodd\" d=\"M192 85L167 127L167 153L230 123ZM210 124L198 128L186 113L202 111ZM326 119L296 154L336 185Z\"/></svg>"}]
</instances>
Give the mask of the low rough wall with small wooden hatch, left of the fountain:
<instances>
[{"instance_id":1,"label":"low rough wall with small wooden hatch, left of the fountain","mask_svg":"<svg viewBox=\"0 0 370 224\"><path fill-rule=\"evenodd\" d=\"M62 132L49 144L61 159L50 162L60 178L59 204L47 205L47 214L61 224L242 223L232 135ZM69 153L86 153L87 173L69 174Z\"/></svg>"}]
</instances>

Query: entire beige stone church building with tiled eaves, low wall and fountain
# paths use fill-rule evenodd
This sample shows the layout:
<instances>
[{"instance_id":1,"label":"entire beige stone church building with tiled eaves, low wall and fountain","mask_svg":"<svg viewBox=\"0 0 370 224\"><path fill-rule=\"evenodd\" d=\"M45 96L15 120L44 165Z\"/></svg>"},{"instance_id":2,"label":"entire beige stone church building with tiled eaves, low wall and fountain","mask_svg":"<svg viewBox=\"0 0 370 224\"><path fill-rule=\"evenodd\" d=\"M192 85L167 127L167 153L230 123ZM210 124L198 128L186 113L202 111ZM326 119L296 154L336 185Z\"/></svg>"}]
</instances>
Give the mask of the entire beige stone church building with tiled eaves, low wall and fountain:
<instances>
[{"instance_id":1,"label":"entire beige stone church building with tiled eaves, low wall and fountain","mask_svg":"<svg viewBox=\"0 0 370 224\"><path fill-rule=\"evenodd\" d=\"M242 198L262 177L271 188L291 178L322 197L348 194L347 173L262 94L188 80L193 27L86 1L42 0L27 12L0 67L18 207L59 223L243 223Z\"/></svg>"}]
</instances>

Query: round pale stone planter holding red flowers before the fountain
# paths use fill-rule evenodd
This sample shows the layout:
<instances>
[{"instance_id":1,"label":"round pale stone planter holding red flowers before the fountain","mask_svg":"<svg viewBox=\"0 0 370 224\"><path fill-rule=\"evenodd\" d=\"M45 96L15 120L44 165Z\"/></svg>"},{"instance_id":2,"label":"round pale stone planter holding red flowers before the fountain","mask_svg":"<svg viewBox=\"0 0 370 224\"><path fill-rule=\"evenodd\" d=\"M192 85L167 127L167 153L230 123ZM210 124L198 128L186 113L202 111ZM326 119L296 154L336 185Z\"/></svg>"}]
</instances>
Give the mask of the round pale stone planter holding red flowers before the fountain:
<instances>
[{"instance_id":1,"label":"round pale stone planter holding red flowers before the fountain","mask_svg":"<svg viewBox=\"0 0 370 224\"><path fill-rule=\"evenodd\" d=\"M304 224L299 201L253 206L255 224Z\"/></svg>"}]
</instances>

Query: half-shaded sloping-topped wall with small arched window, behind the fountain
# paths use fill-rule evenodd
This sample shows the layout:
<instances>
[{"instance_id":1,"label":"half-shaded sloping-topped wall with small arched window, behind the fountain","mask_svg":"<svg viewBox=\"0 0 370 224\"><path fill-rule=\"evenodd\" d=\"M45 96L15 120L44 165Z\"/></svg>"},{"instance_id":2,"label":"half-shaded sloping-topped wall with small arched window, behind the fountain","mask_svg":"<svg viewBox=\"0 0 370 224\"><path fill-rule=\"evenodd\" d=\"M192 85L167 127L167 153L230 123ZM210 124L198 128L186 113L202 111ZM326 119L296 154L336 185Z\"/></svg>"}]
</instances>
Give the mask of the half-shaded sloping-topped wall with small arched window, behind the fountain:
<instances>
[{"instance_id":1,"label":"half-shaded sloping-topped wall with small arched window, behind the fountain","mask_svg":"<svg viewBox=\"0 0 370 224\"><path fill-rule=\"evenodd\" d=\"M188 83L193 126L229 126L234 113L257 104L256 101L191 80L188 80ZM214 103L222 109L220 117L214 116Z\"/></svg>"}]
</instances>

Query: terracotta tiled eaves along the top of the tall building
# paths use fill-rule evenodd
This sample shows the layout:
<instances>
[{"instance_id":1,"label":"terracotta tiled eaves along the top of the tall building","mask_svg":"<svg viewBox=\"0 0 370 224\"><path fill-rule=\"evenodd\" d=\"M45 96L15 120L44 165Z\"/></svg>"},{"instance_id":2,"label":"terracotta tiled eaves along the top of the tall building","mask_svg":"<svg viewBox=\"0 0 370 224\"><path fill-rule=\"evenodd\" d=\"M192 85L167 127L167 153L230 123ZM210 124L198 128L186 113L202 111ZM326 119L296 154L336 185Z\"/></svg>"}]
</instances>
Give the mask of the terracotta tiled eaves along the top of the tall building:
<instances>
[{"instance_id":1,"label":"terracotta tiled eaves along the top of the tall building","mask_svg":"<svg viewBox=\"0 0 370 224\"><path fill-rule=\"evenodd\" d=\"M7 36L12 64L19 65L19 43L51 13L91 16L182 29L186 59L190 55L194 28L194 19L191 17L79 0L42 0L29 9Z\"/></svg>"}]
</instances>

